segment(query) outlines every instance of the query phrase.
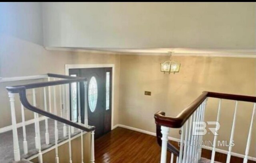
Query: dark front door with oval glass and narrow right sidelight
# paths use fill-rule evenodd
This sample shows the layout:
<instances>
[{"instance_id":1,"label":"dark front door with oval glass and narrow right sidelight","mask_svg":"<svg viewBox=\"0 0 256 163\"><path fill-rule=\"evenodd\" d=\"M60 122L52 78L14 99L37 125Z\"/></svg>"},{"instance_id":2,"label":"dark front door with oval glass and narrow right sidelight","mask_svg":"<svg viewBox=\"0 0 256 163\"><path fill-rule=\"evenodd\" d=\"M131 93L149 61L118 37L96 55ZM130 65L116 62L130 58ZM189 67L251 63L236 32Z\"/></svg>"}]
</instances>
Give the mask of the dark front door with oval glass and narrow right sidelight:
<instances>
[{"instance_id":1,"label":"dark front door with oval glass and narrow right sidelight","mask_svg":"<svg viewBox=\"0 0 256 163\"><path fill-rule=\"evenodd\" d=\"M95 126L95 138L111 130L112 68L70 69L70 75L86 77L88 124ZM84 122L84 87L80 83L81 119Z\"/></svg>"}]
</instances>

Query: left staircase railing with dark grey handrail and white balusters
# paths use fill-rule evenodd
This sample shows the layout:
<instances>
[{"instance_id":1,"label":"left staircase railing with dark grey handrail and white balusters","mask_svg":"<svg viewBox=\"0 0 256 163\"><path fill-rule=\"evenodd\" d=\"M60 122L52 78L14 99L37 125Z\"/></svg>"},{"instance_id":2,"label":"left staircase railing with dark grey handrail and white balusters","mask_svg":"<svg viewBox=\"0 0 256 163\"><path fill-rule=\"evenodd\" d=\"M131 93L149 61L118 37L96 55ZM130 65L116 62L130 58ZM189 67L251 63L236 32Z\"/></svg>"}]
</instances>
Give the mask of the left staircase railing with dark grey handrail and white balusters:
<instances>
[{"instance_id":1,"label":"left staircase railing with dark grey handrail and white balusters","mask_svg":"<svg viewBox=\"0 0 256 163\"><path fill-rule=\"evenodd\" d=\"M77 83L78 86L78 122L74 122L74 117L72 116L72 112L70 112L70 106L72 107L72 111L74 110L72 100L70 101L69 91L72 92L72 83ZM81 110L80 110L80 86L81 84L84 86L84 97L85 97L85 106L84 106L84 122L81 122ZM59 163L59 156L58 156L58 123L63 123L63 137L68 139L68 146L69 146L69 163L72 163L72 151L71 151L71 138L74 134L81 135L81 163L84 162L84 154L83 154L83 134L84 132L91 133L91 163L94 163L94 126L88 125L88 114L87 114L87 81L86 78L82 77L71 77L66 75L56 75L56 74L48 74L48 81L46 82L37 82L32 84L24 84L18 86L7 86L6 89L8 91L8 95L10 98L10 106L11 106L11 114L12 114L12 132L13 132L13 145L14 145L14 161L20 161L21 154L20 154L20 147L19 147L19 140L18 140L18 132L16 126L16 109L14 105L14 96L15 94L19 94L20 102L21 102L21 113L22 113L22 131L23 131L23 151L24 155L28 155L28 143L26 139L26 126L25 126L25 115L24 115L24 108L31 110L34 112L34 128L35 128L35 148L38 151L38 161L39 163L43 163L42 157L42 147L41 147L41 138L40 138L40 125L39 125L39 115L44 116L45 119L45 138L46 138L46 145L50 144L49 141L49 130L48 130L48 119L54 120L54 146L55 146L55 163ZM57 88L58 87L58 88ZM59 92L56 92L56 88ZM53 90L52 90L53 89ZM33 97L33 104L30 104L27 98L27 92L32 90L32 97ZM43 108L40 109L37 107L36 103L36 90L38 94L42 92L43 96ZM37 95L38 95L37 94ZM53 94L53 110L52 110L52 94ZM47 98L48 96L48 98ZM59 104L57 105L57 103ZM59 109L58 109L59 108ZM58 111L60 111L58 113ZM59 115L60 114L60 115ZM67 128L68 127L68 128ZM74 128L79 129L76 133ZM68 134L67 134L68 130Z\"/></svg>"}]
</instances>

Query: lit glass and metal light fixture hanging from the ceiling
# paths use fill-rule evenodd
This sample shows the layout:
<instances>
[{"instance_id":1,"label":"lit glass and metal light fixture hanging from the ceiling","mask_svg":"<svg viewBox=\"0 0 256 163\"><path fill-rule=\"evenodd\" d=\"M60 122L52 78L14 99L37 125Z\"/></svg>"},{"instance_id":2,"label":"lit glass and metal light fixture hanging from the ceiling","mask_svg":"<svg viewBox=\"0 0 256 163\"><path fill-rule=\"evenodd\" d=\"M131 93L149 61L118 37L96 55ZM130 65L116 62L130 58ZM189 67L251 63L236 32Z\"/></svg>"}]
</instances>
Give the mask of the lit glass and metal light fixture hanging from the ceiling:
<instances>
[{"instance_id":1,"label":"lit glass and metal light fixture hanging from the ceiling","mask_svg":"<svg viewBox=\"0 0 256 163\"><path fill-rule=\"evenodd\" d=\"M172 52L168 52L170 54L170 60L161 63L161 72L164 73L178 73L180 71L180 63L172 61Z\"/></svg>"}]
</instances>

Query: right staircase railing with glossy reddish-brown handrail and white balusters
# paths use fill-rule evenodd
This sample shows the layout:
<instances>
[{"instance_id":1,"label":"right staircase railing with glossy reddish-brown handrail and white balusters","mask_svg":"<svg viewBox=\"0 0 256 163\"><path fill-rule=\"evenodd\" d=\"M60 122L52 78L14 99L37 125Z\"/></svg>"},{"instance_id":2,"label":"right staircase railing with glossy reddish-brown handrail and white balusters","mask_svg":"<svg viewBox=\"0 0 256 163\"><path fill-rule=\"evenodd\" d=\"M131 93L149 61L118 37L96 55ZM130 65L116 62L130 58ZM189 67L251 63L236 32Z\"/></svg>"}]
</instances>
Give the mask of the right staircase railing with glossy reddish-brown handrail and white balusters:
<instances>
[{"instance_id":1,"label":"right staircase railing with glossy reddish-brown handrail and white balusters","mask_svg":"<svg viewBox=\"0 0 256 163\"><path fill-rule=\"evenodd\" d=\"M157 139L158 139L158 143L162 147L161 161L160 161L161 163L166 163L166 155L168 151L172 153L171 161L170 161L171 163L173 163L174 161L174 156L176 156L177 163L197 163L201 159L202 145L193 146L192 142L202 141L203 136L194 134L196 132L196 125L193 125L193 122L204 122L204 112L206 109L207 99L209 97L219 98L216 122L218 122L220 118L222 99L236 100L229 143L231 143L234 140L234 130L235 130L235 123L236 123L238 101L254 103L252 117L250 119L249 133L248 133L246 151L245 151L244 162L243 162L243 163L247 163L249 149L250 149L250 142L252 139L252 125L253 125L255 111L256 111L256 97L242 96L242 95L235 95L235 94L223 94L223 93L216 93L216 92L203 92L196 100L194 100L194 102L192 102L187 108L185 108L176 117L165 116L165 113L162 111L159 111L154 115L155 122L156 122ZM182 133L181 133L180 142L179 142L180 149L176 149L173 145L171 145L168 142L168 134L169 134L170 128L181 128ZM211 163L214 163L214 159L215 159L217 136L218 136L217 134L214 135ZM228 148L226 163L230 163L231 151L232 151L232 145L230 145Z\"/></svg>"}]
</instances>

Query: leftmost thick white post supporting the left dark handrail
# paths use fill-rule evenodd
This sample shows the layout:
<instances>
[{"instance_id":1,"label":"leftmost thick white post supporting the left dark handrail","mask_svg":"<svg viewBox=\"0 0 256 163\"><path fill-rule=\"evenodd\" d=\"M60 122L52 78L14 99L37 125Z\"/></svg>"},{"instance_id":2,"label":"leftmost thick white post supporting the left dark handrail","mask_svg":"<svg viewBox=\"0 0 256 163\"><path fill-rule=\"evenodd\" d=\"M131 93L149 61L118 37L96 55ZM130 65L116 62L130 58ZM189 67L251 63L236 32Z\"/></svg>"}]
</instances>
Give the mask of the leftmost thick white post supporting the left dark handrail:
<instances>
[{"instance_id":1,"label":"leftmost thick white post supporting the left dark handrail","mask_svg":"<svg viewBox=\"0 0 256 163\"><path fill-rule=\"evenodd\" d=\"M13 138L14 161L20 161L20 147L19 147L19 140L18 140L17 124L16 124L14 94L9 92L8 96L10 98L11 115L12 115L12 138Z\"/></svg>"}]
</instances>

